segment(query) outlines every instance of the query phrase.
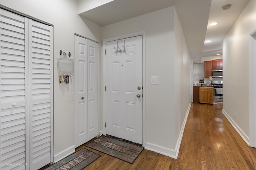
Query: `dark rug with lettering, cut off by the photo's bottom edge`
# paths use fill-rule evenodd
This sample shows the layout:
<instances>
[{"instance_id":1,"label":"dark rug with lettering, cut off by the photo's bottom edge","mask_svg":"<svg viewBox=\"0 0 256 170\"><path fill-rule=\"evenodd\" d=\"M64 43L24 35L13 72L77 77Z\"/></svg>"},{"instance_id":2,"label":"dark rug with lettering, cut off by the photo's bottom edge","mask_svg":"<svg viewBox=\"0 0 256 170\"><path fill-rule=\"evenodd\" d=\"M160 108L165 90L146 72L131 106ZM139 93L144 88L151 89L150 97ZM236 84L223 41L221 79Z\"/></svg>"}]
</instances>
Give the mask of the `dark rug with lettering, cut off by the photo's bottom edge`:
<instances>
[{"instance_id":1,"label":"dark rug with lettering, cut off by the photo's bottom edge","mask_svg":"<svg viewBox=\"0 0 256 170\"><path fill-rule=\"evenodd\" d=\"M44 170L82 170L99 157L100 155L82 148Z\"/></svg>"}]
</instances>

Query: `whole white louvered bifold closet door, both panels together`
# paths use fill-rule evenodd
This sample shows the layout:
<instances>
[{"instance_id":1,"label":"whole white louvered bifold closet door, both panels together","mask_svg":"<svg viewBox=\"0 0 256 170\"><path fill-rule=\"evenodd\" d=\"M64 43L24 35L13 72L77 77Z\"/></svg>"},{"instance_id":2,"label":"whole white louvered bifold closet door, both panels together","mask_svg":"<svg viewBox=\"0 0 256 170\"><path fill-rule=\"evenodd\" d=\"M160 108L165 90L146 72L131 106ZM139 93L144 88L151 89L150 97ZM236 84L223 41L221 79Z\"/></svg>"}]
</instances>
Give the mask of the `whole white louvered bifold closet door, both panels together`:
<instances>
[{"instance_id":1,"label":"whole white louvered bifold closet door, both panels together","mask_svg":"<svg viewBox=\"0 0 256 170\"><path fill-rule=\"evenodd\" d=\"M0 169L53 162L52 27L0 9Z\"/></svg>"}]
</instances>

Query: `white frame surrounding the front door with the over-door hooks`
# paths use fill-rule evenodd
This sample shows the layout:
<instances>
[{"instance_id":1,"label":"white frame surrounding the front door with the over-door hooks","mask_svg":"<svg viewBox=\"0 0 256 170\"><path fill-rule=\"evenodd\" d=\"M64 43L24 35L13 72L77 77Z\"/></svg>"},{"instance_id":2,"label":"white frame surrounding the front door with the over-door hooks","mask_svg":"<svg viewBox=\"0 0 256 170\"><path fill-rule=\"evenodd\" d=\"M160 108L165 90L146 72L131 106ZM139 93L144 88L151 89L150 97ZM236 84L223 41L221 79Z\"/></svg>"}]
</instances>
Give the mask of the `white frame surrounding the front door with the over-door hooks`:
<instances>
[{"instance_id":1,"label":"white frame surrounding the front door with the over-door hooks","mask_svg":"<svg viewBox=\"0 0 256 170\"><path fill-rule=\"evenodd\" d=\"M146 31L127 34L127 35L121 35L118 37L112 37L108 39L103 39L103 48L102 48L102 58L103 58L103 131L100 132L100 135L106 135L106 43L108 41L116 41L118 39L124 39L124 38L130 38L130 37L136 37L142 35L142 94L143 94L143 100L142 100L142 146L145 147L146 145Z\"/></svg>"}]
</instances>

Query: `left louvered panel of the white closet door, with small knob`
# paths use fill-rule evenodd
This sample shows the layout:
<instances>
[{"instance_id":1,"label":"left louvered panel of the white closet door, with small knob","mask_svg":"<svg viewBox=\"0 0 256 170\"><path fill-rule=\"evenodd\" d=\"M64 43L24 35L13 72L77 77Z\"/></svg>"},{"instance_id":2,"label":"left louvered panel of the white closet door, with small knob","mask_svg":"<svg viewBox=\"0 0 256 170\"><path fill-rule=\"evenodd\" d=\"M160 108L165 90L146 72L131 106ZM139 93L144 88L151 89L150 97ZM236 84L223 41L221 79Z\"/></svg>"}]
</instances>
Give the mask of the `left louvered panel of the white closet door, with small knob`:
<instances>
[{"instance_id":1,"label":"left louvered panel of the white closet door, with small knob","mask_svg":"<svg viewBox=\"0 0 256 170\"><path fill-rule=\"evenodd\" d=\"M28 156L28 43L25 18L0 9L1 170L25 169Z\"/></svg>"}]
</instances>

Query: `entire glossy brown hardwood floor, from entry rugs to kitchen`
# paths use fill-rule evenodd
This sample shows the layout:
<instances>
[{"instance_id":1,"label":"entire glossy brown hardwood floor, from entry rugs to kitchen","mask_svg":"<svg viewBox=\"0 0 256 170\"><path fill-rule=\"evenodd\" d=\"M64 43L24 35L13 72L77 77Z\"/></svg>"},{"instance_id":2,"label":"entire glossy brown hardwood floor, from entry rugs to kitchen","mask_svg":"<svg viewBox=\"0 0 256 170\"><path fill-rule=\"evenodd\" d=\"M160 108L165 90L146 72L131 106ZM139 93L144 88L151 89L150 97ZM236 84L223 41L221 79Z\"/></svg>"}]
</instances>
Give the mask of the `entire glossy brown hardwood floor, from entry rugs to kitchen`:
<instances>
[{"instance_id":1,"label":"entire glossy brown hardwood floor, from entry rugs to kitchen","mask_svg":"<svg viewBox=\"0 0 256 170\"><path fill-rule=\"evenodd\" d=\"M243 141L222 114L222 103L193 105L178 159L144 149L129 164L85 147L101 157L84 170L255 170L256 149Z\"/></svg>"}]
</instances>

